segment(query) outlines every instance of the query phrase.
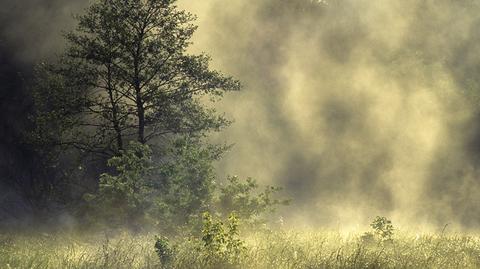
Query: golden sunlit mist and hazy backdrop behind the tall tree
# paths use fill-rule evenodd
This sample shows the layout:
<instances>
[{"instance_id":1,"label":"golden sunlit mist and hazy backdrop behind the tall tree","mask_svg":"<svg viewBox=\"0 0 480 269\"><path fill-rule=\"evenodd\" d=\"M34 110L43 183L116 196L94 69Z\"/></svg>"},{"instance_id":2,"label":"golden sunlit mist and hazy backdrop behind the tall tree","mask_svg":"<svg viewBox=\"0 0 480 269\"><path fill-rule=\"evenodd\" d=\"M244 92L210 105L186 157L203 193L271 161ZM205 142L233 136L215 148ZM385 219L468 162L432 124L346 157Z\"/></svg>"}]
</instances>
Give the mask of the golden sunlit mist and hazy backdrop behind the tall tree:
<instances>
[{"instance_id":1,"label":"golden sunlit mist and hazy backdrop behind the tall tree","mask_svg":"<svg viewBox=\"0 0 480 269\"><path fill-rule=\"evenodd\" d=\"M60 51L88 1L0 4L0 166L24 171L24 78ZM244 84L219 107L235 120L213 138L235 144L221 177L283 186L292 225L354 228L386 215L400 226L478 228L480 3L179 5L198 15L192 52Z\"/></svg>"}]
</instances>

